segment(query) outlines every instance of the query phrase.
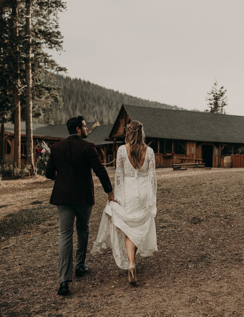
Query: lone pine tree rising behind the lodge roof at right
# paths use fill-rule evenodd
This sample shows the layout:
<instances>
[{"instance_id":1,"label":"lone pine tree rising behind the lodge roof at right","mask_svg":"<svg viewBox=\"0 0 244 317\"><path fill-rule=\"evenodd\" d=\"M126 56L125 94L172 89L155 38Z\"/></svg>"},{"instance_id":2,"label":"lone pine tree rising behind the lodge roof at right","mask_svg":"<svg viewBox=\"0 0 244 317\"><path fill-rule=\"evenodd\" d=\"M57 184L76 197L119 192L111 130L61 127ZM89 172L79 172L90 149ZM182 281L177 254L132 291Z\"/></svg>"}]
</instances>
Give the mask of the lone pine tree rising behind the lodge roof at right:
<instances>
[{"instance_id":1,"label":"lone pine tree rising behind the lodge roof at right","mask_svg":"<svg viewBox=\"0 0 244 317\"><path fill-rule=\"evenodd\" d=\"M208 101L209 109L206 109L205 111L225 114L225 107L227 106L226 92L227 89L224 89L224 86L218 89L218 83L215 80L212 89L207 93L206 101Z\"/></svg>"}]
</instances>

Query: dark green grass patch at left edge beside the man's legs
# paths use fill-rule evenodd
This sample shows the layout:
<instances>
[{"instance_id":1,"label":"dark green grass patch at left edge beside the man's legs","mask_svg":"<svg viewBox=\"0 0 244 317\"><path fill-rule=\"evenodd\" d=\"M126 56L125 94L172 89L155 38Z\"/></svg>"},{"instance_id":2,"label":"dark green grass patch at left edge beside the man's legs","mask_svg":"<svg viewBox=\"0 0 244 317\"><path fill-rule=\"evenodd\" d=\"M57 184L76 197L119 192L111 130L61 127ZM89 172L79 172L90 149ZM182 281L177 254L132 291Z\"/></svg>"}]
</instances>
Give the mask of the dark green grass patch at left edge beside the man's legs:
<instances>
[{"instance_id":1,"label":"dark green grass patch at left edge beside the man's legs","mask_svg":"<svg viewBox=\"0 0 244 317\"><path fill-rule=\"evenodd\" d=\"M8 214L0 222L0 237L17 236L26 227L41 224L53 217L54 214L55 210L53 208L46 209L43 205L36 208L20 209L17 212Z\"/></svg>"}]
</instances>

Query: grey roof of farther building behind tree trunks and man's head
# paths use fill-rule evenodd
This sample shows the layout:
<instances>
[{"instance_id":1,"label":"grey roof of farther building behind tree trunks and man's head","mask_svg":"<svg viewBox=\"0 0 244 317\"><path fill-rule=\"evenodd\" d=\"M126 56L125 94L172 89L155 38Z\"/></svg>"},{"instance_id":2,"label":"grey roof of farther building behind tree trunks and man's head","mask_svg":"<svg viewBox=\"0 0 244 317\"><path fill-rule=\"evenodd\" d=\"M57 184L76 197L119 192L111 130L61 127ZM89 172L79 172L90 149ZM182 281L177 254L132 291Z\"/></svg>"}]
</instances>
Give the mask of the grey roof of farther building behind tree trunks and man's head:
<instances>
[{"instance_id":1,"label":"grey roof of farther building behind tree trunks and man's head","mask_svg":"<svg viewBox=\"0 0 244 317\"><path fill-rule=\"evenodd\" d=\"M96 122L87 122L87 127L91 128ZM14 125L6 124L6 132L14 133ZM25 122L21 122L21 134L25 134ZM56 124L53 126L40 123L33 123L33 136L65 139L69 136L66 124Z\"/></svg>"}]
</instances>

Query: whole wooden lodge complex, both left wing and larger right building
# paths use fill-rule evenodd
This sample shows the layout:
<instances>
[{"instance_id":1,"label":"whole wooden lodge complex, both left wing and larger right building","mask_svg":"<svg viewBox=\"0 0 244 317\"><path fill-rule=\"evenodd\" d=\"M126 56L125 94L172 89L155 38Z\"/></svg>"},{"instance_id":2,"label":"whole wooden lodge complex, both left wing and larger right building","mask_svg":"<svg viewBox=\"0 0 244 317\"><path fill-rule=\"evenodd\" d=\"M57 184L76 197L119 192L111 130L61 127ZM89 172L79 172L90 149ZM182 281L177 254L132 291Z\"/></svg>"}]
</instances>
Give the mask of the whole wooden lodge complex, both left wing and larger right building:
<instances>
[{"instance_id":1,"label":"whole wooden lodge complex, both left wing and larger right building","mask_svg":"<svg viewBox=\"0 0 244 317\"><path fill-rule=\"evenodd\" d=\"M171 167L181 158L203 159L208 167L223 167L224 155L236 154L238 148L244 146L244 116L122 105L113 125L87 123L86 140L95 143L104 164L116 165L118 147L125 140L124 127L132 120L143 124L146 143L154 150L157 167ZM25 123L21 131L22 163L26 164ZM52 145L68 135L65 124L33 123L34 149L37 140ZM13 138L14 126L8 123L5 159L10 161L13 159Z\"/></svg>"}]
</instances>

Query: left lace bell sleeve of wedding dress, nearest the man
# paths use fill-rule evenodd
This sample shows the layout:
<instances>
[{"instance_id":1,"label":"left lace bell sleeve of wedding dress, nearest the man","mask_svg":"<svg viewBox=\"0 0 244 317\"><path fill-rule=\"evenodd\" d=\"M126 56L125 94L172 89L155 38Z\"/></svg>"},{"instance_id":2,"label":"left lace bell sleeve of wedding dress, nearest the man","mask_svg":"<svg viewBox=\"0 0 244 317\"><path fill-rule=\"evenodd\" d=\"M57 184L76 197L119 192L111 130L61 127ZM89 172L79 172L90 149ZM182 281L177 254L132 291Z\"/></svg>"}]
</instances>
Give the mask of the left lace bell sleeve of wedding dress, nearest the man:
<instances>
[{"instance_id":1,"label":"left lace bell sleeve of wedding dress, nearest the man","mask_svg":"<svg viewBox=\"0 0 244 317\"><path fill-rule=\"evenodd\" d=\"M114 178L114 198L121 207L125 205L125 186L124 186L124 158L123 149L120 146L117 151L116 171Z\"/></svg>"}]
</instances>

